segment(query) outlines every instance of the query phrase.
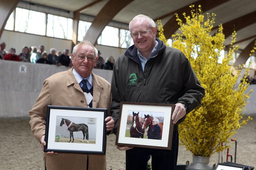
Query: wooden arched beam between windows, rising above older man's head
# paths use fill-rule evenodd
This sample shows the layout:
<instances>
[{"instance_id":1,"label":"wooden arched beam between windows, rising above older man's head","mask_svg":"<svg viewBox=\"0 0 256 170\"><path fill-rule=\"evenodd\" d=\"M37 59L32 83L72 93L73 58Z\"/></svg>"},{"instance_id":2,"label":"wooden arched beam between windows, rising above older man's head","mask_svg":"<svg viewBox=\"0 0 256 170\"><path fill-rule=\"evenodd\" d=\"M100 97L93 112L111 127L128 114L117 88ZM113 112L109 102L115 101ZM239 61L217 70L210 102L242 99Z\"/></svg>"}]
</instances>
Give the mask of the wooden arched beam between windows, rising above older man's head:
<instances>
[{"instance_id":1,"label":"wooden arched beam between windows, rising above older man's head","mask_svg":"<svg viewBox=\"0 0 256 170\"><path fill-rule=\"evenodd\" d=\"M105 26L108 25L119 11L132 1L133 0L109 0L94 18L92 25L85 34L84 40L90 41L95 45Z\"/></svg>"}]
</instances>

